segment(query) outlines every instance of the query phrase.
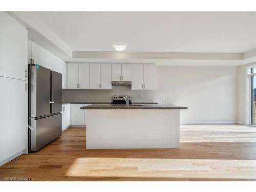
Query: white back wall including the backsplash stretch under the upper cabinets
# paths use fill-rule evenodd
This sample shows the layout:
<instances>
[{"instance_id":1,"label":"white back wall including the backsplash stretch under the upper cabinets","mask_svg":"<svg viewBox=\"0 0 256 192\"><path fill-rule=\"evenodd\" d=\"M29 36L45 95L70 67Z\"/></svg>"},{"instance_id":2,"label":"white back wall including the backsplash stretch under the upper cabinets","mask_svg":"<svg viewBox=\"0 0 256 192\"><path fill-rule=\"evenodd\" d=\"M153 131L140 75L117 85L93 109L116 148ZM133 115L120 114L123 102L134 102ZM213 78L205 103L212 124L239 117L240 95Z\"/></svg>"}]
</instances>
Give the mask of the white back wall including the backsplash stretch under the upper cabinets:
<instances>
[{"instance_id":1,"label":"white back wall including the backsplash stretch under the upper cabinets","mask_svg":"<svg viewBox=\"0 0 256 192\"><path fill-rule=\"evenodd\" d=\"M181 123L237 123L238 67L156 66L155 91L63 90L65 101L109 101L112 95L131 95L133 102L187 106Z\"/></svg>"}]
</instances>

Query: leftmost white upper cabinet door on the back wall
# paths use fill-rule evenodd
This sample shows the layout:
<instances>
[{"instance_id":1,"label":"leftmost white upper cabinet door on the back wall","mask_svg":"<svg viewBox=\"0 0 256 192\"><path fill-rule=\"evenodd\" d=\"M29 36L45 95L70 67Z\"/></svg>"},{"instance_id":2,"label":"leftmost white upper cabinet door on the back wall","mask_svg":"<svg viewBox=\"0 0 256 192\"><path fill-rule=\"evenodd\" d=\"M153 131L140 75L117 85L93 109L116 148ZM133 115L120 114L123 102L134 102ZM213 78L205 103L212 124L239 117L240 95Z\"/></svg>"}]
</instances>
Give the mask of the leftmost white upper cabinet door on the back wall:
<instances>
[{"instance_id":1,"label":"leftmost white upper cabinet door on the back wall","mask_svg":"<svg viewBox=\"0 0 256 192\"><path fill-rule=\"evenodd\" d=\"M68 89L78 89L79 64L68 63Z\"/></svg>"}]
</instances>

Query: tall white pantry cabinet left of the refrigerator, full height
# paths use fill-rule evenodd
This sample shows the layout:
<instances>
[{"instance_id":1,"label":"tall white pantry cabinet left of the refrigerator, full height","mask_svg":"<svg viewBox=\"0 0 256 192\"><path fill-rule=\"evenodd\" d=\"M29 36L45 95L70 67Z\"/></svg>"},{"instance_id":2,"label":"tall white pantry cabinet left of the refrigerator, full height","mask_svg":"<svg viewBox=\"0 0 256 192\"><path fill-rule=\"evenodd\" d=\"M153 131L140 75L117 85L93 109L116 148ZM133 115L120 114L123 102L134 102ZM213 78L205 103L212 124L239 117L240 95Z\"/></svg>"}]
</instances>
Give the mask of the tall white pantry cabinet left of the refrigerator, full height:
<instances>
[{"instance_id":1,"label":"tall white pantry cabinet left of the refrigerator, full height","mask_svg":"<svg viewBox=\"0 0 256 192\"><path fill-rule=\"evenodd\" d=\"M0 166L26 153L28 31L0 11Z\"/></svg>"}]
</instances>

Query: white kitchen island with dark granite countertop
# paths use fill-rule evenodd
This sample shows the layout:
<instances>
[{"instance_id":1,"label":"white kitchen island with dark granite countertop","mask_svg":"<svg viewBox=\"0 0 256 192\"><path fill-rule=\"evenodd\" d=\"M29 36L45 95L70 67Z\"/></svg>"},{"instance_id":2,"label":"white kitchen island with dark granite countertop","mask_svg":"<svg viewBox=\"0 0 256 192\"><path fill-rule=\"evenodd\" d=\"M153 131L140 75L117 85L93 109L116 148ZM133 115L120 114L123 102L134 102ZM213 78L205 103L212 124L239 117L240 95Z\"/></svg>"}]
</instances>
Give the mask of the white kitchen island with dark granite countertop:
<instances>
[{"instance_id":1,"label":"white kitchen island with dark granite countertop","mask_svg":"<svg viewBox=\"0 0 256 192\"><path fill-rule=\"evenodd\" d=\"M183 109L159 104L83 106L86 148L178 148Z\"/></svg>"}]
</instances>

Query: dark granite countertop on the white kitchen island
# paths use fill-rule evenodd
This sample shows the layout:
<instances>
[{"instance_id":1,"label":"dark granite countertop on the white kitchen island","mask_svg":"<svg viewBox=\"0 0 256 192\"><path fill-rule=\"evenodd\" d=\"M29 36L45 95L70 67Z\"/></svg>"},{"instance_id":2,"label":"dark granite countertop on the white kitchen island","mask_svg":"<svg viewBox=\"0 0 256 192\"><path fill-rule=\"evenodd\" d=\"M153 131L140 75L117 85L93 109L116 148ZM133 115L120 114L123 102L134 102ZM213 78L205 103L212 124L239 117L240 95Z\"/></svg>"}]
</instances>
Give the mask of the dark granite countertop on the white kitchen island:
<instances>
[{"instance_id":1,"label":"dark granite countertop on the white kitchen island","mask_svg":"<svg viewBox=\"0 0 256 192\"><path fill-rule=\"evenodd\" d=\"M164 104L145 104L145 105L112 105L112 104L92 104L82 106L81 110L186 110L186 106L164 105Z\"/></svg>"}]
</instances>

